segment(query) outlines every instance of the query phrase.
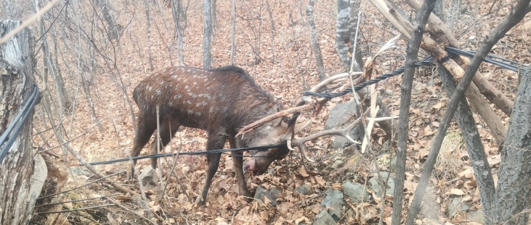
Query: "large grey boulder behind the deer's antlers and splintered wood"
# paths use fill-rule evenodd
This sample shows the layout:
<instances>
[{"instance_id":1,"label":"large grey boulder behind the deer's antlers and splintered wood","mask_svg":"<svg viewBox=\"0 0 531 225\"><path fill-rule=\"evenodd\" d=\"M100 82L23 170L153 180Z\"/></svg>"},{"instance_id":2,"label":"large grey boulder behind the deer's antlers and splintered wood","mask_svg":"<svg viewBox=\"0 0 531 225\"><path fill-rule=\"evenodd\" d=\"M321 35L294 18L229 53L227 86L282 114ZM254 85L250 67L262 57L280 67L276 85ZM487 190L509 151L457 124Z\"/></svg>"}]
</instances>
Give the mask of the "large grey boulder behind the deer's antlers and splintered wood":
<instances>
[{"instance_id":1,"label":"large grey boulder behind the deer's antlers and splintered wood","mask_svg":"<svg viewBox=\"0 0 531 225\"><path fill-rule=\"evenodd\" d=\"M356 103L354 101L350 101L345 104L338 104L336 107L333 107L330 110L330 114L328 115L327 121L324 123L324 129L334 129L337 128L340 125L344 125L347 123L353 115L355 115L355 109ZM353 129L350 131L350 137L354 138L356 137L357 130ZM352 145L346 138L341 136L334 136L335 139L332 143L332 148L344 148L349 145Z\"/></svg>"}]
</instances>

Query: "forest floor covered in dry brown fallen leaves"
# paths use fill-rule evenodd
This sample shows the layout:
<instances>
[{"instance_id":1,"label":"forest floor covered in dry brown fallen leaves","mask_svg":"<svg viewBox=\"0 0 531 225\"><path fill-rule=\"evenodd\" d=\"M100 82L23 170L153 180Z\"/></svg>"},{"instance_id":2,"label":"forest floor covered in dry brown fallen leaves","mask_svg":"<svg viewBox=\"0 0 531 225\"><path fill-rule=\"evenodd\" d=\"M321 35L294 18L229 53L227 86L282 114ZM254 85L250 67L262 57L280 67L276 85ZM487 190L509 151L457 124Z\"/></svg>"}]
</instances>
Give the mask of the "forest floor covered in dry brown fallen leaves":
<instances>
[{"instance_id":1,"label":"forest floor covered in dry brown fallen leaves","mask_svg":"<svg viewBox=\"0 0 531 225\"><path fill-rule=\"evenodd\" d=\"M150 1L151 3L151 1ZM266 4L268 3L269 6ZM336 2L317 1L314 7L319 44L322 51L326 75L344 73L335 47ZM132 102L132 91L136 84L151 73L148 64L147 28L143 3L113 3L119 12L117 21L124 26L124 33L119 41L117 65L119 71L97 73L92 86L95 93L95 109L101 120L102 130L93 126L87 98L76 96L75 116L71 124L72 146L89 162L107 161L126 158L130 154L134 138L133 122L128 102L121 96L116 85L116 74L121 76ZM125 5L126 4L126 5ZM235 65L244 68L253 76L263 89L278 97L285 108L295 104L301 93L308 87L318 83L315 59L309 45L309 26L306 23L306 2L299 1L236 1L236 49ZM174 22L172 12L164 5L151 5L151 59L155 70L170 65L178 65L174 48ZM268 12L268 7L271 9ZM458 6L454 6L458 7ZM446 10L450 28L455 32L460 44L467 50L476 50L484 35L488 34L507 13L507 5L496 5L499 10L489 12L490 5L474 1L462 1L460 10L448 7ZM407 8L402 6L402 8ZM398 32L375 10L369 2L361 4L361 47L364 60L373 57L374 52ZM232 34L231 1L217 1L217 25L212 39L212 67L229 64L230 37ZM408 15L413 12L407 12ZM203 18L202 3L190 1L187 9L187 26L184 32L184 64L201 67ZM271 27L274 24L274 30ZM527 32L531 26L529 17L511 30L506 38L496 44L491 53L529 64L529 43ZM399 39L395 47L387 50L376 60L375 71L378 74L389 73L402 66L405 59L406 42ZM170 53L168 53L170 52ZM419 57L425 57L421 52ZM483 65L479 70L496 87L500 88L509 98L516 94L515 73L492 65ZM67 87L73 92L74 80L66 80ZM419 68L413 83L412 106L409 119L409 144L407 151L407 174L404 191L404 209L408 209L413 199L416 184L422 172L423 163L429 153L430 142L437 132L439 121L446 109L448 98L441 84L435 66ZM380 82L376 86L382 94L392 115L398 115L401 76L395 76ZM333 106L353 99L352 95L333 98L318 115L303 114L299 121L313 120L310 128L299 136L307 136L324 129L330 109ZM132 103L134 104L134 103ZM135 112L137 107L133 105ZM496 109L502 122L507 124L508 118ZM492 160L495 174L499 166L500 152L498 143L492 138L481 118L474 115L477 128L481 134L487 156ZM66 121L66 120L65 120ZM48 134L47 134L48 135ZM36 136L37 137L37 136ZM50 134L48 137L52 137ZM204 131L182 128L176 138L164 149L165 152L201 151L205 148L206 134ZM34 138L37 139L37 138ZM158 224L306 224L312 223L315 215L322 210L320 205L325 191L340 190L346 182L367 185L367 181L379 172L389 171L388 164L380 164L382 157L393 156L396 146L386 145L389 140L380 128L372 135L372 142L365 154L357 147L333 149L333 138L319 138L306 143L307 152L315 163L303 161L298 151L284 160L275 161L269 172L260 176L246 175L248 186L255 191L258 186L265 189L280 190L278 204L272 206L261 201L249 201L238 194L237 181L230 156L221 157L218 173L213 179L207 197L207 205L197 206L190 202L186 195L195 199L205 180L206 159L203 156L179 156L175 173L167 182L162 200L156 202L159 190L144 190L147 196L149 212L143 210L137 201L125 194L117 197L119 204L126 206L135 213L149 217ZM477 224L467 218L481 208L479 194L475 184L472 168L469 165L466 149L457 128L452 123L448 131L447 141L441 150L440 161L435 168L429 186L429 201L434 202L432 218L419 216L418 223L460 223ZM41 140L36 140L41 145ZM391 147L389 147L391 146ZM228 148L228 145L226 146ZM147 155L149 145L142 155ZM60 150L54 154L61 156ZM78 161L72 156L59 157L67 168L78 167ZM161 158L161 173L164 181L171 174L173 158ZM339 166L338 164L339 163ZM336 165L334 165L336 164ZM380 165L379 165L380 164ZM150 167L150 160L139 160L137 171ZM97 167L104 174L110 175L124 172L129 163L116 163ZM95 179L89 174L73 174L68 172L68 180L62 190L78 187ZM392 173L392 170L391 170ZM115 182L122 183L140 192L138 182L127 181L125 173L113 176ZM164 182L163 182L164 183ZM302 184L309 185L313 194L302 195L294 190ZM389 224L392 212L392 196L384 199L376 196L367 187L371 195L363 203L354 203L345 197L342 206L344 218L340 224L375 224L382 218ZM117 191L106 183L84 186L61 197L62 201L72 199L88 199L90 197L115 194ZM449 205L459 197L459 201L470 207L465 212L449 215ZM107 200L91 200L82 203L70 203L68 207L83 208L107 204ZM83 212L67 214L71 224L149 224L131 211L118 206L106 206ZM407 211L404 211L406 213ZM381 217L381 215L383 216ZM404 214L405 215L405 214Z\"/></svg>"}]
</instances>

